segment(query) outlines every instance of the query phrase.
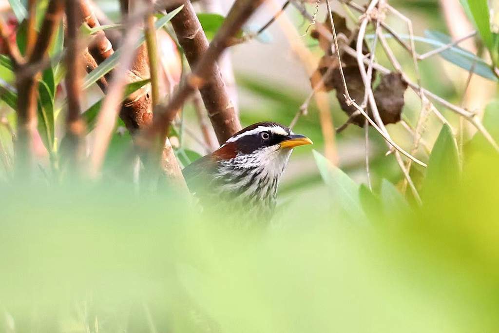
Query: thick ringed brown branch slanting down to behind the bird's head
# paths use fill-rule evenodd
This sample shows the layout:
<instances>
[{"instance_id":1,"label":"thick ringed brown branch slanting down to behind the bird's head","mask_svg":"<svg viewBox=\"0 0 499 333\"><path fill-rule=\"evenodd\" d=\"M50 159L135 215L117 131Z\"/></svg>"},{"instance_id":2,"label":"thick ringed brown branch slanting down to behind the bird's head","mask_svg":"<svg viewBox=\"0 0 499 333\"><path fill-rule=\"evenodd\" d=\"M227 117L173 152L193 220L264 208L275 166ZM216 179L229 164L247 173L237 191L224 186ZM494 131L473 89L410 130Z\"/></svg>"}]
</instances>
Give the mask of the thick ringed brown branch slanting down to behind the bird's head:
<instances>
[{"instance_id":1,"label":"thick ringed brown branch slanting down to behind the bird's head","mask_svg":"<svg viewBox=\"0 0 499 333\"><path fill-rule=\"evenodd\" d=\"M251 5L251 7L256 8L262 1L256 0L252 2L254 2L255 5ZM244 1L236 1L233 8L238 8L238 4L241 5L241 3L244 3ZM199 90L208 111L208 116L210 117L212 126L217 134L219 143L222 144L241 129L239 118L236 115L234 105L231 102L229 93L227 92L222 79L220 68L216 63L216 60L220 57L222 51L227 48L228 40L222 40L220 37L217 39L216 37L212 42L212 47L210 47L211 52L208 51L210 46L208 39L201 27L201 23L199 22L191 1L185 0L183 1L183 4L184 8L172 19L172 25L191 68L198 69L198 72L195 73L195 75L201 78L199 82L194 83L194 87L189 88L185 86L183 90L192 90L192 88L198 88L198 86L200 86ZM244 20L246 21L246 19ZM238 29L235 30L234 33L231 33L230 37L234 36L241 28L240 22L232 23L236 23ZM228 24L224 24L224 26L227 29ZM218 36L219 35L220 33ZM207 57L204 55L208 55L209 52L213 54L210 54L210 59L206 61ZM180 103L178 103L177 106L180 106L184 100L185 98L179 100Z\"/></svg>"}]
</instances>

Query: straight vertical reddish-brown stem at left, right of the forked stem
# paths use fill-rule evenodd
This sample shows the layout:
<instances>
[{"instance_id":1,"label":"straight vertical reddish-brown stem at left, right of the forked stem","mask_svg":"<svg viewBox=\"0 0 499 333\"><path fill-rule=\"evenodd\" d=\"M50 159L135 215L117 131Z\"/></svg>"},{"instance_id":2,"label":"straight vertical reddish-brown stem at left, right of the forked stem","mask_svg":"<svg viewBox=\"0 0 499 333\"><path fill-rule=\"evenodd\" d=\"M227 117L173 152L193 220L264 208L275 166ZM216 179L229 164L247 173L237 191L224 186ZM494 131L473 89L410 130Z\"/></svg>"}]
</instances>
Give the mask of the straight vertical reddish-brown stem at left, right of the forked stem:
<instances>
[{"instance_id":1,"label":"straight vertical reddish-brown stem at left, right of the forked stem","mask_svg":"<svg viewBox=\"0 0 499 333\"><path fill-rule=\"evenodd\" d=\"M71 169L81 166L83 158L83 135L85 124L81 119L81 77L82 58L79 52L78 27L81 22L81 11L79 0L66 0L66 78L65 85L67 91L67 118L66 132L69 145L69 161Z\"/></svg>"}]
</instances>

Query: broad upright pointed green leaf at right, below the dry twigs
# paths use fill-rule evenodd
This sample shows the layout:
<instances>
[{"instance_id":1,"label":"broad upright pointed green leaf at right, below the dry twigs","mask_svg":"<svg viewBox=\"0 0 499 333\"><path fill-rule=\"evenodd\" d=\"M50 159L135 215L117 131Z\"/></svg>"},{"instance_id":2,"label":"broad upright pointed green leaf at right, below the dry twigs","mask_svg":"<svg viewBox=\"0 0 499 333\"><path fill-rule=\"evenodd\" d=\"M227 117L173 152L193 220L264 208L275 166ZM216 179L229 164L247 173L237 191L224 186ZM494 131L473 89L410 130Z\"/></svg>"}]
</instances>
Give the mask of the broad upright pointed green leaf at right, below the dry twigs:
<instances>
[{"instance_id":1,"label":"broad upright pointed green leaf at right, below the dry twigs","mask_svg":"<svg viewBox=\"0 0 499 333\"><path fill-rule=\"evenodd\" d=\"M444 124L433 146L423 181L422 197L442 188L453 188L460 177L458 146L451 128Z\"/></svg>"}]
</instances>

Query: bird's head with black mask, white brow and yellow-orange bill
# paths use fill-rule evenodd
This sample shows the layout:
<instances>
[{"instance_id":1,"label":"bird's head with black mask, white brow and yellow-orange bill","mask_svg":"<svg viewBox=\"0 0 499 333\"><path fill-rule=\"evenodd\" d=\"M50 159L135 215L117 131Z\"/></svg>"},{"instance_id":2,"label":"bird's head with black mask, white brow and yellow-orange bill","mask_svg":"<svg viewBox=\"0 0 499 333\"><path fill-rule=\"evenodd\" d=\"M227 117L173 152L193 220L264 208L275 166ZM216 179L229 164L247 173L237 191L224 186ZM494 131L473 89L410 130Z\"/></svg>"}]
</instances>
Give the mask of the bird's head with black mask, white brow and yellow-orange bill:
<instances>
[{"instance_id":1,"label":"bird's head with black mask, white brow and yellow-orange bill","mask_svg":"<svg viewBox=\"0 0 499 333\"><path fill-rule=\"evenodd\" d=\"M294 134L284 125L259 122L234 134L214 155L230 160L238 168L264 168L269 173L280 173L292 149L307 144L312 144L309 138Z\"/></svg>"}]
</instances>

